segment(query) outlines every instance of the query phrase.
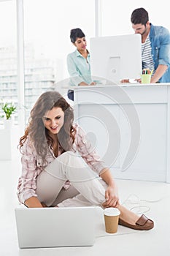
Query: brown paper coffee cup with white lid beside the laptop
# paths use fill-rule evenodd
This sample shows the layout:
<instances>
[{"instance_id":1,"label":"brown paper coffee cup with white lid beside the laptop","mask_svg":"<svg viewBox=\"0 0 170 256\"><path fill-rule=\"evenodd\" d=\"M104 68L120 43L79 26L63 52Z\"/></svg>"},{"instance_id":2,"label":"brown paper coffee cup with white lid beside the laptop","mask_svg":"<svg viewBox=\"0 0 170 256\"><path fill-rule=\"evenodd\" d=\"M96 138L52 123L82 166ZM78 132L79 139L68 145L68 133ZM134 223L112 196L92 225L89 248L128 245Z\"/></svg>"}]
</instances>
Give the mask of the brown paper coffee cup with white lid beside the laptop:
<instances>
[{"instance_id":1,"label":"brown paper coffee cup with white lid beside the laptop","mask_svg":"<svg viewBox=\"0 0 170 256\"><path fill-rule=\"evenodd\" d=\"M116 233L120 211L117 208L104 209L105 230L107 233Z\"/></svg>"}]
</instances>

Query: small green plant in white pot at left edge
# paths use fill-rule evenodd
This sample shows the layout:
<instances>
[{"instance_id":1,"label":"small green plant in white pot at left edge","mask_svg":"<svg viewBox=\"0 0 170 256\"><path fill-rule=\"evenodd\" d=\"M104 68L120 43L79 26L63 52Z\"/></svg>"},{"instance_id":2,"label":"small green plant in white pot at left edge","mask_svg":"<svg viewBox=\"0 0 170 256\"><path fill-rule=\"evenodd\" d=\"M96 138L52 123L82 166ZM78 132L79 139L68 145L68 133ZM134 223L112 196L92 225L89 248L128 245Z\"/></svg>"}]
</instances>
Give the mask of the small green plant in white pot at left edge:
<instances>
[{"instance_id":1,"label":"small green plant in white pot at left edge","mask_svg":"<svg viewBox=\"0 0 170 256\"><path fill-rule=\"evenodd\" d=\"M12 126L12 114L15 113L16 107L12 104L12 102L1 103L1 110L4 118L4 128L9 129Z\"/></svg>"}]
</instances>

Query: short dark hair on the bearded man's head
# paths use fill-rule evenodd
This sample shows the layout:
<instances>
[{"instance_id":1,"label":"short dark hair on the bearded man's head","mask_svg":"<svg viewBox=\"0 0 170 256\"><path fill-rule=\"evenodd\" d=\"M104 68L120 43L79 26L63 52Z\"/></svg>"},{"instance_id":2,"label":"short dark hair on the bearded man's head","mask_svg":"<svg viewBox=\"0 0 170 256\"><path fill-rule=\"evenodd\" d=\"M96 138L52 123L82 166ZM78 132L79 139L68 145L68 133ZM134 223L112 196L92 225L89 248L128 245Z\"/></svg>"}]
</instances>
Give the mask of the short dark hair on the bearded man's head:
<instances>
[{"instance_id":1,"label":"short dark hair on the bearded man's head","mask_svg":"<svg viewBox=\"0 0 170 256\"><path fill-rule=\"evenodd\" d=\"M134 10L134 12L132 12L131 14L131 23L134 25L142 24L145 26L148 20L149 20L149 15L148 15L148 12L144 10L144 8L138 8Z\"/></svg>"}]
</instances>

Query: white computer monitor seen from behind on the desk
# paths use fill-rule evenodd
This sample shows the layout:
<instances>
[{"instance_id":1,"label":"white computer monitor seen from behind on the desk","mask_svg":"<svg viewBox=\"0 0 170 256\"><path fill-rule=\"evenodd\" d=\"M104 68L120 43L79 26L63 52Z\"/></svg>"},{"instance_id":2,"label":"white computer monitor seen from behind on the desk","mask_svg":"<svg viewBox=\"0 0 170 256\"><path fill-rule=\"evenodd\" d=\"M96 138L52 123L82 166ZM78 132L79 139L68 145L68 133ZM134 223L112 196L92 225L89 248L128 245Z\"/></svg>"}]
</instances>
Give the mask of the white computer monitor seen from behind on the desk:
<instances>
[{"instance_id":1,"label":"white computer monitor seen from behind on the desk","mask_svg":"<svg viewBox=\"0 0 170 256\"><path fill-rule=\"evenodd\" d=\"M116 84L122 79L140 78L141 35L125 34L90 38L90 59L92 76Z\"/></svg>"}]
</instances>

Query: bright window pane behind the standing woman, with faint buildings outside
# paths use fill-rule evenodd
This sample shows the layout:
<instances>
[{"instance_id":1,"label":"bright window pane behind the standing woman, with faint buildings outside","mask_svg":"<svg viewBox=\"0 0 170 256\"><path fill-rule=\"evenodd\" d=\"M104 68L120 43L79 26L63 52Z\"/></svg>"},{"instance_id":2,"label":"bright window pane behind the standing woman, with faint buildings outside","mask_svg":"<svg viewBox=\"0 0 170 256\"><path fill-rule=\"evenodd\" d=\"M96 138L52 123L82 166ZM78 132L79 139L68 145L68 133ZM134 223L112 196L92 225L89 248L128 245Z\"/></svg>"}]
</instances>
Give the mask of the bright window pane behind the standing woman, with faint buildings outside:
<instances>
[{"instance_id":1,"label":"bright window pane behind the standing woman, with faint buildings outside","mask_svg":"<svg viewBox=\"0 0 170 256\"><path fill-rule=\"evenodd\" d=\"M86 0L82 6L78 0L23 0L23 7L28 114L43 91L69 78L66 56L75 49L69 39L70 30L82 29L87 40L94 37L95 1ZM64 90L58 90L64 94Z\"/></svg>"}]
</instances>

